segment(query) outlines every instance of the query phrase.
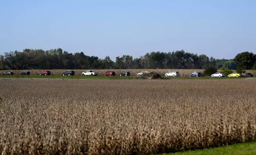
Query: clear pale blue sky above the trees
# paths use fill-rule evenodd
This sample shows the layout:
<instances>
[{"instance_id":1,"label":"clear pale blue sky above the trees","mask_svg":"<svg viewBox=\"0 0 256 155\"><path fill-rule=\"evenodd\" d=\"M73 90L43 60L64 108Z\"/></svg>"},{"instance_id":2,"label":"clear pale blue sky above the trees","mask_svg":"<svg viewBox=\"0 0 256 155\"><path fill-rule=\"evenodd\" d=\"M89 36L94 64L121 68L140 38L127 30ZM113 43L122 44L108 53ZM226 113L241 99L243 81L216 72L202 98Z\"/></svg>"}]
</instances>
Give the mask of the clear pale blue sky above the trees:
<instances>
[{"instance_id":1,"label":"clear pale blue sky above the trees","mask_svg":"<svg viewBox=\"0 0 256 155\"><path fill-rule=\"evenodd\" d=\"M0 54L62 48L104 58L151 51L256 53L256 0L0 0Z\"/></svg>"}]
</instances>

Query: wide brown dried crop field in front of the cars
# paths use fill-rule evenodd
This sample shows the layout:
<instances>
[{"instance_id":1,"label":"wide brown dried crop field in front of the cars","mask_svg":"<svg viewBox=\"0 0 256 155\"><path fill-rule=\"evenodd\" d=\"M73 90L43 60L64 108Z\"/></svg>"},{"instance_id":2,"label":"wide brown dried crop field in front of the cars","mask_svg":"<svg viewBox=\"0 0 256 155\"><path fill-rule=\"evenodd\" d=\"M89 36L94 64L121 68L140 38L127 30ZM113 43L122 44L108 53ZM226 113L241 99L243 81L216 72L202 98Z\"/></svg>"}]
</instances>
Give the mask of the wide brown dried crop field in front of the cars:
<instances>
[{"instance_id":1,"label":"wide brown dried crop field in front of the cars","mask_svg":"<svg viewBox=\"0 0 256 155\"><path fill-rule=\"evenodd\" d=\"M255 79L0 79L0 153L151 154L256 140Z\"/></svg>"}]
</instances>

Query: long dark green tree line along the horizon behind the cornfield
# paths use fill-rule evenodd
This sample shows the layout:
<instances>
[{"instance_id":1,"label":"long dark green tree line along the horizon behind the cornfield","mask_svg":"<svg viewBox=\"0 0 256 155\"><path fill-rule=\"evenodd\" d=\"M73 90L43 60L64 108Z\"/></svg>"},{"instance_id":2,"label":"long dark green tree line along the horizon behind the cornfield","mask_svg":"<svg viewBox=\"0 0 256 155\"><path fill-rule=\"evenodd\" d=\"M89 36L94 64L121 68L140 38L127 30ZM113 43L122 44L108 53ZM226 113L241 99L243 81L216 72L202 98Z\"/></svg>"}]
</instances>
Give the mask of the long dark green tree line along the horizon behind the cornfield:
<instances>
[{"instance_id":1,"label":"long dark green tree line along the horizon behind the cornfield","mask_svg":"<svg viewBox=\"0 0 256 155\"><path fill-rule=\"evenodd\" d=\"M6 52L0 55L1 70L25 69L205 69L206 66L229 68L235 70L240 66L244 70L252 69L256 62L254 53L243 52L234 59L215 59L204 54L197 55L184 50L173 52L151 52L139 58L131 55L116 57L113 61L109 56L99 59L97 56L88 56L83 52L69 53L61 48L24 49L21 51Z\"/></svg>"}]
</instances>

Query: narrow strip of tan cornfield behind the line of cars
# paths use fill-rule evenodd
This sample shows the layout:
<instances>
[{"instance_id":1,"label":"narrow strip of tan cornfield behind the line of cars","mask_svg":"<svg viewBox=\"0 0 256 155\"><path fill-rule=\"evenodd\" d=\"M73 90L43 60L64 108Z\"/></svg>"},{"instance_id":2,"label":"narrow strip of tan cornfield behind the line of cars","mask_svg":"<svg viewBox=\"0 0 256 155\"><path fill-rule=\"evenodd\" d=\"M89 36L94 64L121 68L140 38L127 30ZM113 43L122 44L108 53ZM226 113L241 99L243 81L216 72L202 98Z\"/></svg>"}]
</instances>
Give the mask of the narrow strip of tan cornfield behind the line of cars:
<instances>
[{"instance_id":1,"label":"narrow strip of tan cornfield behind the line of cars","mask_svg":"<svg viewBox=\"0 0 256 155\"><path fill-rule=\"evenodd\" d=\"M2 75L5 71L7 70L0 70L0 75ZM8 71L12 71L14 72L14 74L20 74L23 70L8 70ZM28 70L31 75L39 75L41 71L43 70ZM62 73L65 70L50 70L52 72L52 75L56 75L56 76L61 76ZM82 72L84 72L85 70L74 70L76 75L81 75ZM142 71L148 71L148 72L157 72L158 74L160 74L161 76L164 76L165 73L170 72L170 71L178 71L180 73L180 76L188 76L188 74L192 73L192 72L204 72L204 70L199 70L199 69L194 69L194 70L189 70L189 69L123 69L123 70L93 70L94 72L99 72L99 75L102 76L103 73L107 72L107 71L114 71L116 72L116 74L120 74L122 71L130 71L131 76L137 76L138 73L142 72ZM220 72L220 70L219 70ZM235 72L235 71L234 71ZM254 75L256 75L256 70L246 70L246 73L252 73Z\"/></svg>"}]
</instances>

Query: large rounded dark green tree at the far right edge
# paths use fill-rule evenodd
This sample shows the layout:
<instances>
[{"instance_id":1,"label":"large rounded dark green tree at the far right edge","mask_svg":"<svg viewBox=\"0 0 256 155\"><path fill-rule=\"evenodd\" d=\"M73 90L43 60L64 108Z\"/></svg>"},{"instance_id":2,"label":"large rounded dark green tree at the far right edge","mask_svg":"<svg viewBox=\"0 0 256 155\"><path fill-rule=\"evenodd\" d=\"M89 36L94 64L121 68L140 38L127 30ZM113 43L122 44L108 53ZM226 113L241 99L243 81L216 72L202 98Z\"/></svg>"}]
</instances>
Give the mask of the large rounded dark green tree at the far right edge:
<instances>
[{"instance_id":1,"label":"large rounded dark green tree at the far right edge","mask_svg":"<svg viewBox=\"0 0 256 155\"><path fill-rule=\"evenodd\" d=\"M248 51L242 52L236 55L234 61L242 70L250 70L256 61L256 55Z\"/></svg>"}]
</instances>

